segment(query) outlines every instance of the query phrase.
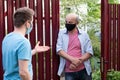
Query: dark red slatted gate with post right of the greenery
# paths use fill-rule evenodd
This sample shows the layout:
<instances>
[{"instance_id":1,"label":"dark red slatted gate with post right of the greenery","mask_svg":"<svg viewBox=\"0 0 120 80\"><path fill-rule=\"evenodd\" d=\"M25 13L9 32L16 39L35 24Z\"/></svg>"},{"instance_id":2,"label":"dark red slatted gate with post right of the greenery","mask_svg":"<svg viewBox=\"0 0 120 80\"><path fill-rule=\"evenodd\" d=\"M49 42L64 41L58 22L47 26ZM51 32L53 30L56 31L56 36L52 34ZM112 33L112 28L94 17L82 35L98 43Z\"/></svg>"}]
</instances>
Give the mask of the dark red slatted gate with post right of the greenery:
<instances>
[{"instance_id":1,"label":"dark red slatted gate with post right of the greenery","mask_svg":"<svg viewBox=\"0 0 120 80\"><path fill-rule=\"evenodd\" d=\"M111 69L120 71L120 4L101 0L101 75L106 80Z\"/></svg>"}]
</instances>

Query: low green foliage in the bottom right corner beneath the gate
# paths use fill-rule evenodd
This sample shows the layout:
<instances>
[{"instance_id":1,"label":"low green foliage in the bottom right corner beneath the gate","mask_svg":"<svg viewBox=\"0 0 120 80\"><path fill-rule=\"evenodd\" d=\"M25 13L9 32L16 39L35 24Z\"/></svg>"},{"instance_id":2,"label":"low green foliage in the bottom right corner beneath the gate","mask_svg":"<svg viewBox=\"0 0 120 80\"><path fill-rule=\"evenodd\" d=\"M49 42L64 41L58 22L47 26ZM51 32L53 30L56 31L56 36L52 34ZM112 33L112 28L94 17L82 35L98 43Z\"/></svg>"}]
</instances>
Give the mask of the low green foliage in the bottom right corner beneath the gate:
<instances>
[{"instance_id":1,"label":"low green foliage in the bottom right corner beneath the gate","mask_svg":"<svg viewBox=\"0 0 120 80\"><path fill-rule=\"evenodd\" d=\"M111 70L107 73L107 80L120 80L120 72Z\"/></svg>"}]
</instances>

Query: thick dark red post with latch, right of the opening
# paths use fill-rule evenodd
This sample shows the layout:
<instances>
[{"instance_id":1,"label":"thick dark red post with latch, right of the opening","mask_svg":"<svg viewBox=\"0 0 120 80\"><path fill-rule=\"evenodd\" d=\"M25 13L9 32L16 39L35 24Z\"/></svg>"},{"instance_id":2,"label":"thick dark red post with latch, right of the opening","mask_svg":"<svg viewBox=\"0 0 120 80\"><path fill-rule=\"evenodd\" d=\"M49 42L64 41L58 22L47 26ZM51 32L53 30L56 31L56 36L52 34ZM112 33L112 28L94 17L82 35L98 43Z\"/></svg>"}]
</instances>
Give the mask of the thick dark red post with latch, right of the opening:
<instances>
[{"instance_id":1,"label":"thick dark red post with latch, right of the opening","mask_svg":"<svg viewBox=\"0 0 120 80\"><path fill-rule=\"evenodd\" d=\"M108 69L108 0L101 0L101 79L106 80Z\"/></svg>"}]
</instances>

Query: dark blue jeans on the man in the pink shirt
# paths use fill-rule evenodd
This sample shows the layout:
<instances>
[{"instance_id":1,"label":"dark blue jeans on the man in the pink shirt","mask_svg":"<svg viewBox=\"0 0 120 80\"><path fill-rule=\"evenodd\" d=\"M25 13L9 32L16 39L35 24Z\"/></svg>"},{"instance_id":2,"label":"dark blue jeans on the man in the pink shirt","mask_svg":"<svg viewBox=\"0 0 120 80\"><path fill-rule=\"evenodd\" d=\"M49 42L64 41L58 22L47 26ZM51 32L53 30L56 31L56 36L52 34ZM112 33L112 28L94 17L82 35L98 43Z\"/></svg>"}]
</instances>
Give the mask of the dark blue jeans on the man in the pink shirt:
<instances>
[{"instance_id":1,"label":"dark blue jeans on the man in the pink shirt","mask_svg":"<svg viewBox=\"0 0 120 80\"><path fill-rule=\"evenodd\" d=\"M92 80L92 77L83 69L78 72L65 72L65 80Z\"/></svg>"}]
</instances>

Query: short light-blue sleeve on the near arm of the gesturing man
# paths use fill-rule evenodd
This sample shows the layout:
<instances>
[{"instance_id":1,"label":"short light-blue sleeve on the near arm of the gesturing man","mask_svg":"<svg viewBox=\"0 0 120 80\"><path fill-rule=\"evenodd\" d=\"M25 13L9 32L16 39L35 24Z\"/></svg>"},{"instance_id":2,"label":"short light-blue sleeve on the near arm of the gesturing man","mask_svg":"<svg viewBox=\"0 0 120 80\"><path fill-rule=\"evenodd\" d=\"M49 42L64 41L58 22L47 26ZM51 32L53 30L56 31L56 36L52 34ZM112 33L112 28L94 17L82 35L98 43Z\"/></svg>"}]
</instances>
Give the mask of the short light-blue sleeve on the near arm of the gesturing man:
<instances>
[{"instance_id":1,"label":"short light-blue sleeve on the near arm of the gesturing man","mask_svg":"<svg viewBox=\"0 0 120 80\"><path fill-rule=\"evenodd\" d=\"M29 41L24 41L19 46L18 49L18 59L19 60L29 60L31 57L31 46Z\"/></svg>"}]
</instances>

